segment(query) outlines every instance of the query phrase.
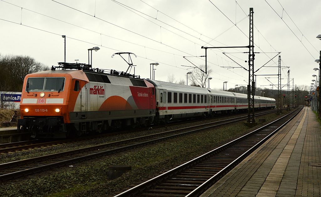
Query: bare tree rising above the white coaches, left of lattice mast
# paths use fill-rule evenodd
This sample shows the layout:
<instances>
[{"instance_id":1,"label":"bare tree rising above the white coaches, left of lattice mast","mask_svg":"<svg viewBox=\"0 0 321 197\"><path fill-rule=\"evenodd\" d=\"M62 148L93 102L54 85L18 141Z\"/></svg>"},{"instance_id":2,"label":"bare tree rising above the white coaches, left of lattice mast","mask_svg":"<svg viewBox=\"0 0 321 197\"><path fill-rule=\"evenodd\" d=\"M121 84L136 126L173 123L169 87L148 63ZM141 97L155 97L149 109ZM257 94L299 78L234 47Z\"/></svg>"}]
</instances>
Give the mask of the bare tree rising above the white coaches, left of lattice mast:
<instances>
[{"instance_id":1,"label":"bare tree rising above the white coaches, left of lattice mast","mask_svg":"<svg viewBox=\"0 0 321 197\"><path fill-rule=\"evenodd\" d=\"M202 70L205 70L205 65L200 65L200 69L195 68L192 74L189 74L188 79L191 81L192 86L205 87L208 76L212 73L212 69L207 67L207 75ZM202 70L201 70L202 69Z\"/></svg>"}]
</instances>

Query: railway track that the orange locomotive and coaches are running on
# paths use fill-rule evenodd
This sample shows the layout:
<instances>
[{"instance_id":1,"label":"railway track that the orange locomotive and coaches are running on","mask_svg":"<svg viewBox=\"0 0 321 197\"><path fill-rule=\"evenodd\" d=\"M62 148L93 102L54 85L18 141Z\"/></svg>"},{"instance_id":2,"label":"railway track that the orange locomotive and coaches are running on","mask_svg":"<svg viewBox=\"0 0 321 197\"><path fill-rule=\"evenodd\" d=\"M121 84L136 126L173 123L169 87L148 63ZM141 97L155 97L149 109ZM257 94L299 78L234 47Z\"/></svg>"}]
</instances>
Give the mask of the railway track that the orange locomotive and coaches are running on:
<instances>
[{"instance_id":1,"label":"railway track that the orange locomotive and coaches are running on","mask_svg":"<svg viewBox=\"0 0 321 197\"><path fill-rule=\"evenodd\" d=\"M272 111L276 111L276 110L272 110ZM271 110L269 110L268 112L271 112ZM229 117L229 116L220 116L219 118L224 118L224 117ZM217 119L217 118L218 117L215 117L212 119ZM192 122L197 122L197 121L199 121L199 120L189 120L189 121L184 121L184 122L175 121L175 122L171 122L171 123L167 124L166 126L169 127L172 125L187 124L187 123L192 123ZM153 128L159 128L159 127L164 127L164 125L153 126ZM22 150L28 150L28 149L33 149L33 148L37 148L37 147L45 147L45 146L56 145L56 144L78 142L78 141L82 141L82 140L89 140L89 139L101 138L101 137L112 136L112 135L119 135L119 134L124 134L124 133L129 133L129 132L136 132L137 130L141 130L141 129L112 132L112 133L101 134L101 135L84 136L84 137L78 137L78 138L73 138L73 139L63 139L63 140L54 140L54 141L52 141L52 140L39 140L38 139L38 140L0 144L0 153L22 151Z\"/></svg>"}]
</instances>

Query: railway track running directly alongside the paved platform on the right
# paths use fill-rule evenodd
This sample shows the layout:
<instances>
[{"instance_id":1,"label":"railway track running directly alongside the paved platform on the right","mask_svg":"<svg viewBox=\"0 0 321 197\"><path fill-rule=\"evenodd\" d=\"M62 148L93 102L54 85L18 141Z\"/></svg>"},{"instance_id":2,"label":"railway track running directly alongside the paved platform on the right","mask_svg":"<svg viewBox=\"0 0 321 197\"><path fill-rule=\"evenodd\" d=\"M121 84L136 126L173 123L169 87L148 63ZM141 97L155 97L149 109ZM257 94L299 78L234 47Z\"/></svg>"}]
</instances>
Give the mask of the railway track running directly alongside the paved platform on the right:
<instances>
[{"instance_id":1,"label":"railway track running directly alongside the paved platform on the right","mask_svg":"<svg viewBox=\"0 0 321 197\"><path fill-rule=\"evenodd\" d=\"M120 193L116 197L199 196L290 122L301 109Z\"/></svg>"}]
</instances>

